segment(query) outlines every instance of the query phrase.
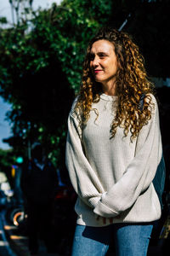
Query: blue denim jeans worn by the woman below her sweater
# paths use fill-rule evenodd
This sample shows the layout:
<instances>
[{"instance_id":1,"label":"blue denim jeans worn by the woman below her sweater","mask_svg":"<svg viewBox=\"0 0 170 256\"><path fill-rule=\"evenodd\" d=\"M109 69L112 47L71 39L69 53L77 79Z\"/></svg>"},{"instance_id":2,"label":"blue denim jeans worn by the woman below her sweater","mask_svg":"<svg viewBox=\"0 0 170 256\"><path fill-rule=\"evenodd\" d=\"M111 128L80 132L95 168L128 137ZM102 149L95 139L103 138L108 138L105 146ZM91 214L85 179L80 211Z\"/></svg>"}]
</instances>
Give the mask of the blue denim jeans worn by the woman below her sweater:
<instances>
[{"instance_id":1,"label":"blue denim jeans worn by the woman below her sweater","mask_svg":"<svg viewBox=\"0 0 170 256\"><path fill-rule=\"evenodd\" d=\"M104 256L112 238L117 256L146 256L152 228L153 223L77 225L71 256Z\"/></svg>"}]
</instances>

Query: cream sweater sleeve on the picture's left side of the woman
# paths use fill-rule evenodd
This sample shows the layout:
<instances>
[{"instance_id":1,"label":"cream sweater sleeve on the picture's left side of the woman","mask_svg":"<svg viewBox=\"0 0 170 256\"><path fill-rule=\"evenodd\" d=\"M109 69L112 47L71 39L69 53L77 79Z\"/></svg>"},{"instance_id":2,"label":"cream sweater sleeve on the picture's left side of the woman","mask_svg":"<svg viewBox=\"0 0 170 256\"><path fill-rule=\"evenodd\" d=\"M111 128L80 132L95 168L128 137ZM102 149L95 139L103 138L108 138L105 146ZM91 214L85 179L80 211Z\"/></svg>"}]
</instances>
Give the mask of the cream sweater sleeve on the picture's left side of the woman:
<instances>
[{"instance_id":1,"label":"cream sweater sleeve on the picture's left side of the woman","mask_svg":"<svg viewBox=\"0 0 170 256\"><path fill-rule=\"evenodd\" d=\"M65 164L77 195L94 208L105 191L83 152L79 122L73 113L68 119Z\"/></svg>"}]
</instances>

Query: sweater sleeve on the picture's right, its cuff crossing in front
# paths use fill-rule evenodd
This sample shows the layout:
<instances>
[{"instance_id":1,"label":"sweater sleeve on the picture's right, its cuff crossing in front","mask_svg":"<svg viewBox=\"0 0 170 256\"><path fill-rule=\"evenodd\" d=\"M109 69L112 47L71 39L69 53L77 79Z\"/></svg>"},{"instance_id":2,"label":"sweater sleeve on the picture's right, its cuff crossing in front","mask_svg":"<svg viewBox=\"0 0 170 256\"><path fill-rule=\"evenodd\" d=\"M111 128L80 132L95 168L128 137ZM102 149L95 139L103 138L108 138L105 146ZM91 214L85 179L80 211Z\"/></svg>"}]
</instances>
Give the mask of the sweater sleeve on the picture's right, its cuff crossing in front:
<instances>
[{"instance_id":1,"label":"sweater sleeve on the picture's right, its cuff crossing in front","mask_svg":"<svg viewBox=\"0 0 170 256\"><path fill-rule=\"evenodd\" d=\"M116 217L132 207L139 195L148 189L161 160L161 132L159 113L154 96L151 96L151 119L139 132L136 152L122 178L101 197L94 213L105 218Z\"/></svg>"}]
</instances>

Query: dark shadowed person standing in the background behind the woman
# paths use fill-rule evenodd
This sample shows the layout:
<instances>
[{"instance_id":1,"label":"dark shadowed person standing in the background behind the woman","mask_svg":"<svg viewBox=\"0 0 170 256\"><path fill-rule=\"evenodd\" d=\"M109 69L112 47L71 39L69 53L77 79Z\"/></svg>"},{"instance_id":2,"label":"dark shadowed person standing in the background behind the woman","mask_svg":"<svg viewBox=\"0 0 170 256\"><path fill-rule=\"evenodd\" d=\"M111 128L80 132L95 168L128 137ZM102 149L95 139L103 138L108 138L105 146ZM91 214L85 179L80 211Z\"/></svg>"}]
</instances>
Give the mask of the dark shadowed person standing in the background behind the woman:
<instances>
[{"instance_id":1,"label":"dark shadowed person standing in the background behind the woman","mask_svg":"<svg viewBox=\"0 0 170 256\"><path fill-rule=\"evenodd\" d=\"M31 160L23 166L20 185L26 200L30 252L37 254L38 238L44 240L49 253L53 252L52 216L58 176L40 143L31 148Z\"/></svg>"}]
</instances>

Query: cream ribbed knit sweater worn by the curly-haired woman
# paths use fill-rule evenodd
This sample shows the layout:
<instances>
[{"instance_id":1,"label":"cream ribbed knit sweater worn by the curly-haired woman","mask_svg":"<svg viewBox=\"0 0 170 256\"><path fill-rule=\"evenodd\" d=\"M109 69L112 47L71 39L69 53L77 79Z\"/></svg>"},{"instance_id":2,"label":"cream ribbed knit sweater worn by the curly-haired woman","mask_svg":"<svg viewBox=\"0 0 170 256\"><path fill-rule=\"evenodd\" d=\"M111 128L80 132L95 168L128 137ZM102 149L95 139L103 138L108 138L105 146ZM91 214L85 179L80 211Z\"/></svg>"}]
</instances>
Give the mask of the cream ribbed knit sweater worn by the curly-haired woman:
<instances>
[{"instance_id":1,"label":"cream ribbed knit sweater worn by the curly-haired woman","mask_svg":"<svg viewBox=\"0 0 170 256\"><path fill-rule=\"evenodd\" d=\"M77 224L102 226L122 222L150 222L161 217L161 206L152 180L161 160L161 132L156 98L152 115L139 136L130 141L118 127L111 138L116 96L102 94L93 103L83 131L74 105L68 119L66 166L77 192ZM97 118L96 112L99 113ZM96 119L97 118L97 119Z\"/></svg>"}]
</instances>

